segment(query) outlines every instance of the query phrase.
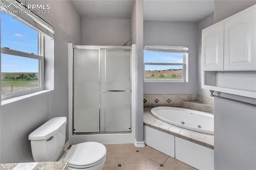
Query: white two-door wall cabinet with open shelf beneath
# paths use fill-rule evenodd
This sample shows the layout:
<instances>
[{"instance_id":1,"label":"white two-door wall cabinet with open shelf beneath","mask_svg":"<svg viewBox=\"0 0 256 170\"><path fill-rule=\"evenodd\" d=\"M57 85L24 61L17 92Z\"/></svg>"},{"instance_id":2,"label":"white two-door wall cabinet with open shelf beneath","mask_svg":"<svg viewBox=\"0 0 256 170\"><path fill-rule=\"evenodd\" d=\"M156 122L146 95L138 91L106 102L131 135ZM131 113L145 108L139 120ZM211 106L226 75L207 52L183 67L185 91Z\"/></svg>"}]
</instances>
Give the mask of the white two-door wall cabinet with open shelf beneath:
<instances>
[{"instance_id":1,"label":"white two-door wall cabinet with open shelf beneath","mask_svg":"<svg viewBox=\"0 0 256 170\"><path fill-rule=\"evenodd\" d=\"M256 98L256 5L202 30L202 88Z\"/></svg>"}]
</instances>

